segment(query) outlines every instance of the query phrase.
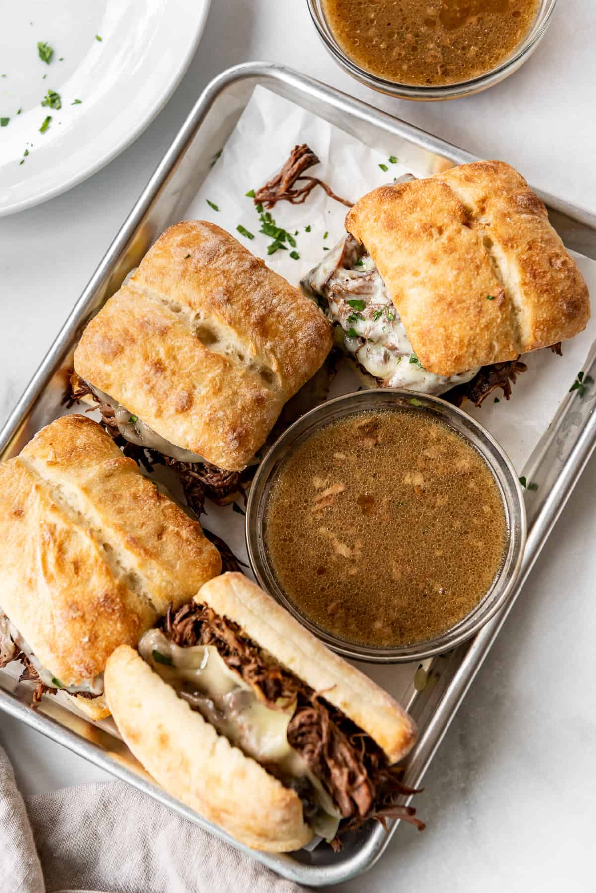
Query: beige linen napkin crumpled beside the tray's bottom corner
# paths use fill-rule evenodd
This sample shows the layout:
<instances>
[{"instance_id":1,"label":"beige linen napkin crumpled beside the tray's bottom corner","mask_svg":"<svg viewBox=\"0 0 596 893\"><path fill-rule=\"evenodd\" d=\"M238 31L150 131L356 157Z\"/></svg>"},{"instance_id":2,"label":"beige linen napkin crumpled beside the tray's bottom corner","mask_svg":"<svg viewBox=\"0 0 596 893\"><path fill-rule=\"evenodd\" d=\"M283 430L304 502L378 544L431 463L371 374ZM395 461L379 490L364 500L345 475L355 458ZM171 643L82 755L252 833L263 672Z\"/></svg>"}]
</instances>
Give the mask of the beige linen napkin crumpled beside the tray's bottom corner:
<instances>
[{"instance_id":1,"label":"beige linen napkin crumpled beside the tray's bottom corner","mask_svg":"<svg viewBox=\"0 0 596 893\"><path fill-rule=\"evenodd\" d=\"M0 893L298 893L122 781L21 797L0 747Z\"/></svg>"}]
</instances>

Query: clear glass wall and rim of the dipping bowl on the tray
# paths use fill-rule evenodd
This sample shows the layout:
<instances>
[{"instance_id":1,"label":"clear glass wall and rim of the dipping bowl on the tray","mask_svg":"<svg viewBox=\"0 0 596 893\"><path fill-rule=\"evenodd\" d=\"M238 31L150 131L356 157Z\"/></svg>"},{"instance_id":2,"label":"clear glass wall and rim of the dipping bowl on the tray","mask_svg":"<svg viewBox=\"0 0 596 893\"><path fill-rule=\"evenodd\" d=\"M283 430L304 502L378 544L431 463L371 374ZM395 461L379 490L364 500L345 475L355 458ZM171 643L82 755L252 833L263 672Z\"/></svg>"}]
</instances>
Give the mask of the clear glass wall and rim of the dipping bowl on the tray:
<instances>
[{"instance_id":1,"label":"clear glass wall and rim of the dipping bowl on the tray","mask_svg":"<svg viewBox=\"0 0 596 893\"><path fill-rule=\"evenodd\" d=\"M456 430L483 456L492 472L503 501L506 517L506 542L499 570L491 587L474 605L466 617L436 638L412 645L373 647L355 644L324 630L310 621L294 605L278 584L265 546L267 503L270 488L287 455L310 435L349 415L366 411L399 409L404 412L426 413L435 420L443 421ZM456 647L480 630L506 601L514 587L525 547L525 504L522 491L508 457L482 425L469 415L456 409L439 397L414 394L406 390L379 388L359 391L329 400L303 415L286 430L265 455L259 465L250 488L246 517L248 558L259 584L293 614L297 620L314 632L329 647L346 657L372 663L399 663L422 660ZM305 580L305 585L308 581Z\"/></svg>"}]
</instances>

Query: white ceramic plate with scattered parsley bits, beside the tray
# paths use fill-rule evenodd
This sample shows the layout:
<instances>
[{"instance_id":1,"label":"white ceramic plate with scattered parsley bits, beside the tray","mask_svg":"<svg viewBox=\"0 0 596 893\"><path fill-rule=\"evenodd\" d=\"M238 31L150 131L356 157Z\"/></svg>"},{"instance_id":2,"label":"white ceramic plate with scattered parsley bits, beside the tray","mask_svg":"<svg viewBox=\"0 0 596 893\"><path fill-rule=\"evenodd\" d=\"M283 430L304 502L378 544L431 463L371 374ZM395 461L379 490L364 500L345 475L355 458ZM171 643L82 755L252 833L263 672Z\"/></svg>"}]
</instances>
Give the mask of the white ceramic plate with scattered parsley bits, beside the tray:
<instances>
[{"instance_id":1,"label":"white ceramic plate with scattered parsley bits, beside the tray","mask_svg":"<svg viewBox=\"0 0 596 893\"><path fill-rule=\"evenodd\" d=\"M139 136L186 71L209 3L0 0L0 215L76 186ZM48 89L59 111L42 107Z\"/></svg>"}]
</instances>

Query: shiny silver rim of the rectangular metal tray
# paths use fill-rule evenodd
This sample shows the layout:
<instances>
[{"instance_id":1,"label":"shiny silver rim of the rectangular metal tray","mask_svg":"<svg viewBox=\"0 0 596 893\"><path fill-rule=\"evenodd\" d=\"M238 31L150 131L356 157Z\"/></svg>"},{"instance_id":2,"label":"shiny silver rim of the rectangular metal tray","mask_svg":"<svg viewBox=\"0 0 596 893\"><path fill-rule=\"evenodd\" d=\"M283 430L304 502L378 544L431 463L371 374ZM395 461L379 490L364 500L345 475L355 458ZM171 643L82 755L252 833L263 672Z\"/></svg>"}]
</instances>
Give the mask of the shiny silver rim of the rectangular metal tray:
<instances>
[{"instance_id":1,"label":"shiny silver rim of the rectangular metal tray","mask_svg":"<svg viewBox=\"0 0 596 893\"><path fill-rule=\"evenodd\" d=\"M142 221L148 208L154 202L155 196L158 195L160 189L167 182L174 170L176 163L184 154L185 149L189 146L189 142L193 138L195 131L199 127L201 121L206 116L215 99L221 95L231 85L245 79L261 79L265 83L286 84L292 88L314 97L322 104L330 104L337 110L344 110L346 113L357 117L361 121L365 121L374 127L381 128L386 132L400 136L417 146L420 146L434 154L440 154L449 159L454 164L466 163L477 160L474 155L466 151L452 146L449 143L426 133L422 129L418 129L413 125L404 121L393 118L388 113L384 113L374 109L372 106L347 96L340 91L328 87L314 79L310 79L305 75L292 71L282 65L256 62L243 63L223 71L222 74L214 78L204 89L197 99L197 103L189 113L187 120L180 128L179 133L172 141L172 145L164 154L164 158L158 164L155 172L149 179L147 187L143 189L139 200L133 206L130 214L124 221L121 230L117 233L112 245L108 248L102 262L98 265L97 271L89 280L87 288L83 291L80 300L74 306L71 314L65 321L62 330L58 333L54 343L50 347L46 357L38 367L32 380L29 382L20 401L15 406L13 413L4 425L4 429L0 432L0 454L2 454L7 445L12 441L21 427L24 425L29 412L35 405L38 396L46 387L50 380L55 361L59 355L63 345L69 341L72 335L79 329L81 323L85 320L88 306L97 291L105 286L110 272L114 265L121 257L125 246L127 246L133 233L137 230L140 221ZM575 220L591 230L596 230L596 217L583 208L575 207L559 200L554 196L550 196L543 192L540 193L551 208L567 215L567 217ZM588 369L596 363L596 351L592 348L592 352L586 361L585 368ZM559 424L564 421L571 406L570 396L563 401L559 407L555 418ZM552 436L558 430L558 426L552 426ZM552 440L552 438L551 438ZM544 445L541 455L546 455L550 448L550 443ZM461 659L457 672L453 675L449 682L448 689L443 693L441 700L435 707L432 716L432 722L424 729L423 734L418 740L415 750L413 751L407 767L407 783L413 787L422 779L424 772L432 760L432 756L441 743L441 739L449 727L449 723L457 713L457 707L461 703L466 691L474 680L476 672L483 663L484 657L488 654L494 638L496 638L502 623L505 621L510 607L513 605L516 595L523 586L528 573L531 571L533 563L541 551L550 530L558 519L559 513L567 501L567 497L571 493L578 480L585 463L587 463L592 450L596 445L596 413L590 413L587 421L583 425L579 436L575 440L575 444L567 456L563 469L558 477L556 486L554 486L543 504L540 511L534 514L533 523L531 525L527 545L525 550L525 559L520 572L518 585L512 593L508 604L504 606L501 613L493 618L476 634L471 643L466 648L466 655ZM533 456L534 465L540 464L541 455ZM459 652L460 649L457 649ZM165 794L164 791L150 784L147 780L143 780L134 772L128 770L115 760L105 755L101 748L93 745L84 739L81 739L71 730L65 729L60 723L46 716L35 714L26 705L22 705L17 698L8 692L0 689L0 710L12 714L19 718L22 722L26 722L32 728L41 731L47 737L58 741L63 746L68 747L75 753L87 758L91 762L102 766L107 771L112 772L117 777L129 781L135 787L145 791L149 796L153 796L166 805L171 805L180 814L185 814L186 807L180 805L178 801L174 801ZM265 853L257 853L254 850L243 847L237 841L229 838L225 832L209 825L201 819L200 816L187 811L188 818L196 822L203 828L208 828L216 836L228 840L233 846L238 847L248 855L256 858L258 861L267 864L274 871L282 874L290 880L296 880L307 885L327 885L338 883L342 880L348 880L360 872L372 867L372 865L380 858L386 847L388 846L393 833L397 829L399 822L394 822L390 828L390 832L385 834L379 826L375 829L369 838L365 841L365 845L358 853L358 857L353 857L351 863L344 863L315 866L298 863L297 860L288 855L270 855Z\"/></svg>"}]
</instances>

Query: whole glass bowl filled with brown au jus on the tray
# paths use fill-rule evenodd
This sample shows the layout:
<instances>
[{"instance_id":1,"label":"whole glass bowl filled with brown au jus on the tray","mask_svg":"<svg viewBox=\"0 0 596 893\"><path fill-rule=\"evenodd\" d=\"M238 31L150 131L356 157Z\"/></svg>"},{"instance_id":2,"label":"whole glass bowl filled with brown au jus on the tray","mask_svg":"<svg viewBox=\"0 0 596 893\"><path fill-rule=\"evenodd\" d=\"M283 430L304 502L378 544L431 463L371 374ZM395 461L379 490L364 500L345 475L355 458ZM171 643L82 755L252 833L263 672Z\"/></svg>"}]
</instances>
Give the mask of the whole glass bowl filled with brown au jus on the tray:
<instances>
[{"instance_id":1,"label":"whole glass bowl filled with brown au jus on the tray","mask_svg":"<svg viewBox=\"0 0 596 893\"><path fill-rule=\"evenodd\" d=\"M248 497L260 585L329 647L422 660L471 638L507 600L525 547L516 472L439 397L337 397L286 430Z\"/></svg>"}]
</instances>

